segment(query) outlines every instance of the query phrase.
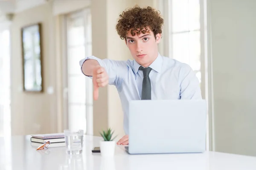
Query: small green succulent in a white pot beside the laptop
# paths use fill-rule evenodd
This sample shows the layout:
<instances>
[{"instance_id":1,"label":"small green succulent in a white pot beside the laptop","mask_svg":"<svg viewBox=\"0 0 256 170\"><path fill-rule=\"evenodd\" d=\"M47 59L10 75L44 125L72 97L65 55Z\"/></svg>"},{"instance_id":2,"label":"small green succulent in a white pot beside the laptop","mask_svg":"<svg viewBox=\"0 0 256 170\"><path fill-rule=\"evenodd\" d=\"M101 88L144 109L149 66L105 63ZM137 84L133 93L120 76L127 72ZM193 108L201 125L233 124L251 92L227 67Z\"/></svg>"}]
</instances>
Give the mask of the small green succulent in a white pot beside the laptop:
<instances>
[{"instance_id":1,"label":"small green succulent in a white pot beside the laptop","mask_svg":"<svg viewBox=\"0 0 256 170\"><path fill-rule=\"evenodd\" d=\"M112 132L111 128L108 129L108 131L102 130L101 136L104 139L103 141L100 141L100 153L102 156L114 156L115 154L115 146L116 142L113 141L114 138L112 138L114 132Z\"/></svg>"}]
</instances>

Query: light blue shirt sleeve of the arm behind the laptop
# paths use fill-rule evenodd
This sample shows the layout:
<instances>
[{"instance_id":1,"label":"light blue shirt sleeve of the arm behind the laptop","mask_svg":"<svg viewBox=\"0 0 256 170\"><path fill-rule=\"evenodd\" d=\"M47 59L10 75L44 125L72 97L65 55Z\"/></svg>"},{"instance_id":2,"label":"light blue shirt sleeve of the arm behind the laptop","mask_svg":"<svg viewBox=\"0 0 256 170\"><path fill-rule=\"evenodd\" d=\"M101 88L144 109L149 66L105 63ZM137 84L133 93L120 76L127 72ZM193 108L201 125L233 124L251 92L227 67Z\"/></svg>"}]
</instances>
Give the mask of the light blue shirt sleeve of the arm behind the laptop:
<instances>
[{"instance_id":1,"label":"light blue shirt sleeve of the arm behind the laptop","mask_svg":"<svg viewBox=\"0 0 256 170\"><path fill-rule=\"evenodd\" d=\"M189 65L181 68L180 77L180 99L202 99L198 78Z\"/></svg>"}]
</instances>

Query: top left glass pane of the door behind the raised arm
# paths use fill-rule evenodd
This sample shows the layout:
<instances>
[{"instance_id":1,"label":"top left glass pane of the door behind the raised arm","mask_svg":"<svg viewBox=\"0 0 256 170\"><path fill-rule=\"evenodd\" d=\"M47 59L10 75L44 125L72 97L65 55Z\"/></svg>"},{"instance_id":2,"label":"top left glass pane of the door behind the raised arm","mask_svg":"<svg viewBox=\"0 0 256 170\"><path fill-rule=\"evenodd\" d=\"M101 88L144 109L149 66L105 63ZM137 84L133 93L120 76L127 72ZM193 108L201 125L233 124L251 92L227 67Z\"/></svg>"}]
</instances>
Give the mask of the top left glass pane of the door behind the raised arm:
<instances>
[{"instance_id":1,"label":"top left glass pane of the door behind the raised arm","mask_svg":"<svg viewBox=\"0 0 256 170\"><path fill-rule=\"evenodd\" d=\"M77 17L70 19L70 29L68 30L68 46L84 45L84 19Z\"/></svg>"}]
</instances>

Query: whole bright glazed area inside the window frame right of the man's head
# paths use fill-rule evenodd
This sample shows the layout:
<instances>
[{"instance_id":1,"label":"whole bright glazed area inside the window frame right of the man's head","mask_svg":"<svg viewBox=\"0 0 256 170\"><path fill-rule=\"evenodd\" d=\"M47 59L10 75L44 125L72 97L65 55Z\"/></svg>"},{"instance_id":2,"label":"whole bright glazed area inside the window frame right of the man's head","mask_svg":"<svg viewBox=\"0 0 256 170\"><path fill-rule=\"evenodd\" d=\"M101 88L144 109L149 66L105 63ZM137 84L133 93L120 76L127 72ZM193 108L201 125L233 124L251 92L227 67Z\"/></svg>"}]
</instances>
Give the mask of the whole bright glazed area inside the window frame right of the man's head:
<instances>
[{"instance_id":1,"label":"whole bright glazed area inside the window frame right of the man's head","mask_svg":"<svg viewBox=\"0 0 256 170\"><path fill-rule=\"evenodd\" d=\"M201 42L199 0L170 0L173 59L184 62L195 71L201 83Z\"/></svg>"}]
</instances>

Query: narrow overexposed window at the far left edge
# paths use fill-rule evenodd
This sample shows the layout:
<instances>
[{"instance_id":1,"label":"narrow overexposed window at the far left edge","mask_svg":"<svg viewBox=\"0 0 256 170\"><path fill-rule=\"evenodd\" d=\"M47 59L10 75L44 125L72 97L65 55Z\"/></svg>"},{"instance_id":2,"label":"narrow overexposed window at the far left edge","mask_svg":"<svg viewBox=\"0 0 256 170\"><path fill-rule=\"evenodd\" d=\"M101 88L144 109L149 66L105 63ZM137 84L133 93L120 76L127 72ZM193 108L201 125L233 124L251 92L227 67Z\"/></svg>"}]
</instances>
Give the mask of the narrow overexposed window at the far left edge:
<instances>
[{"instance_id":1,"label":"narrow overexposed window at the far left edge","mask_svg":"<svg viewBox=\"0 0 256 170\"><path fill-rule=\"evenodd\" d=\"M12 169L12 148L11 142L11 95L10 95L10 31L9 23L0 23L0 26L7 25L8 28L0 27L0 136L4 136L6 169Z\"/></svg>"}]
</instances>

